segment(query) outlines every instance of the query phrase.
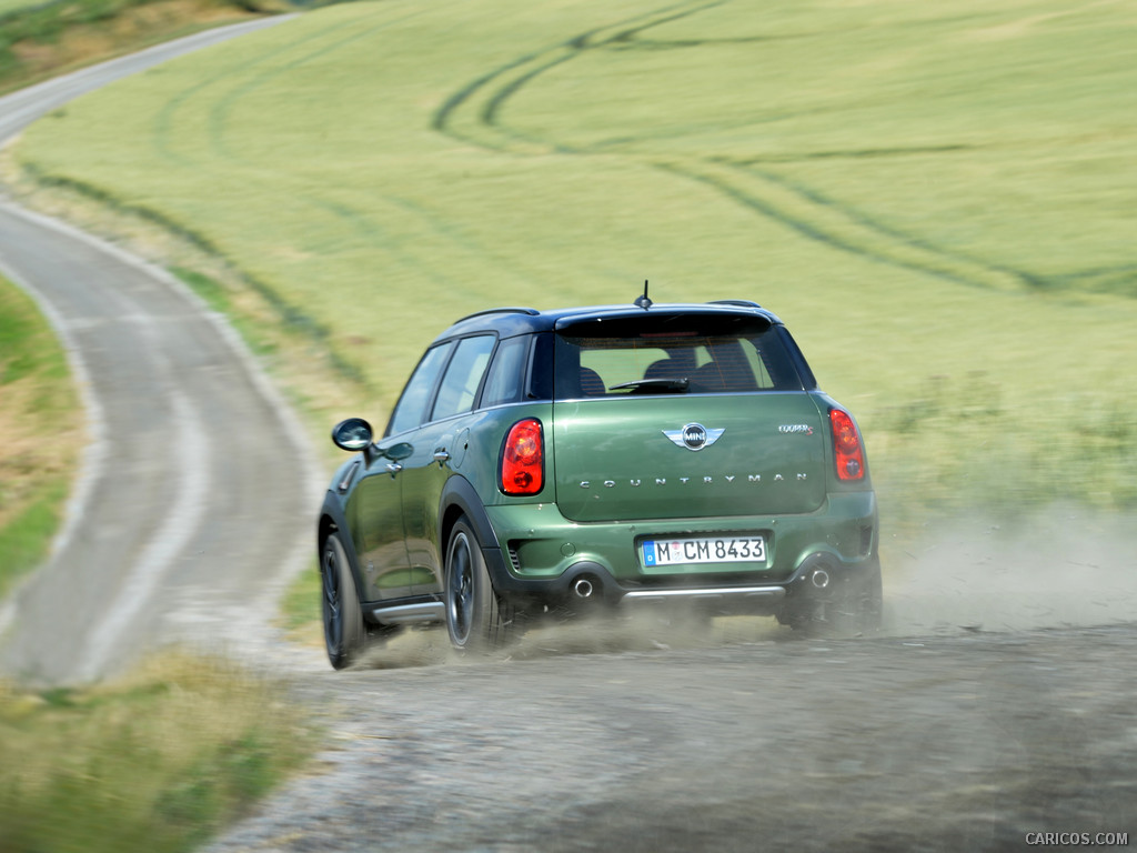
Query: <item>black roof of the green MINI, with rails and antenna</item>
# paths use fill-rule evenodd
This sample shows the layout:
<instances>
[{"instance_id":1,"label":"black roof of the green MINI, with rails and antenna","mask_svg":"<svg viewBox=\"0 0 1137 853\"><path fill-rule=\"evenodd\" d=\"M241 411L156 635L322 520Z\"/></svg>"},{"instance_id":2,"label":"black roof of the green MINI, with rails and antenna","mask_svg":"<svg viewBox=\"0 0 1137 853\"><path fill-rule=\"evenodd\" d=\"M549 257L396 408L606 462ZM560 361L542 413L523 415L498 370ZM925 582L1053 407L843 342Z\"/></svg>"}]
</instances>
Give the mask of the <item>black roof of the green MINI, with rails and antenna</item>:
<instances>
[{"instance_id":1,"label":"black roof of the green MINI, with rails and antenna","mask_svg":"<svg viewBox=\"0 0 1137 853\"><path fill-rule=\"evenodd\" d=\"M708 314L764 317L781 325L777 315L756 303L742 299L723 299L713 303L656 303L647 308L636 305L592 305L578 308L493 308L471 314L456 321L435 340L456 338L475 332L497 332L501 338L531 332L548 332L576 323L644 316L646 314Z\"/></svg>"}]
</instances>

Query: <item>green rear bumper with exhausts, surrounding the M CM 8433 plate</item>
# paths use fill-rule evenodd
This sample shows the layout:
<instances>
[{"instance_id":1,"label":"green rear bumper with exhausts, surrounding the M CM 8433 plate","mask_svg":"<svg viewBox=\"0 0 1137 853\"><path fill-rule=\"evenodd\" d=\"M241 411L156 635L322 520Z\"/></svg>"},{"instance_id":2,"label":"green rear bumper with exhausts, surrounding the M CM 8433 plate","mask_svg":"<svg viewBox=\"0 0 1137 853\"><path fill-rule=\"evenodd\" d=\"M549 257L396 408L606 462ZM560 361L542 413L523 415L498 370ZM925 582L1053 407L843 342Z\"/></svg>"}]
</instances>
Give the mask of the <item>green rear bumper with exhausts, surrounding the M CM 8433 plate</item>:
<instances>
[{"instance_id":1,"label":"green rear bumper with exhausts, surrounding the M CM 8433 plate","mask_svg":"<svg viewBox=\"0 0 1137 853\"><path fill-rule=\"evenodd\" d=\"M879 574L871 491L833 495L815 513L579 524L550 504L488 507L497 543L483 548L500 595L529 610L694 605L715 613L781 613L827 601ZM647 569L644 538L762 533L763 564ZM796 606L796 605L795 605Z\"/></svg>"}]
</instances>

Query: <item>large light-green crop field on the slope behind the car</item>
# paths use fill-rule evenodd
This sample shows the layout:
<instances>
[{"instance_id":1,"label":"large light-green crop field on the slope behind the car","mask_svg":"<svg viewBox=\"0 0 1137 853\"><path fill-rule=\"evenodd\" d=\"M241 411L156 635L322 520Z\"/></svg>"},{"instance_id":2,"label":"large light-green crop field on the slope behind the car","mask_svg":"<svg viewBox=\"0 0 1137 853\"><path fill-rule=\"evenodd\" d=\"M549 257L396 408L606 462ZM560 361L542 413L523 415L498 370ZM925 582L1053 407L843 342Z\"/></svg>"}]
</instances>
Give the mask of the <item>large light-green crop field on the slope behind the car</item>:
<instances>
[{"instance_id":1,"label":"large light-green crop field on the slope behind the car","mask_svg":"<svg viewBox=\"0 0 1137 853\"><path fill-rule=\"evenodd\" d=\"M1137 6L384 0L69 105L16 157L223 257L381 421L496 305L752 298L894 517L1137 505Z\"/></svg>"}]
</instances>

